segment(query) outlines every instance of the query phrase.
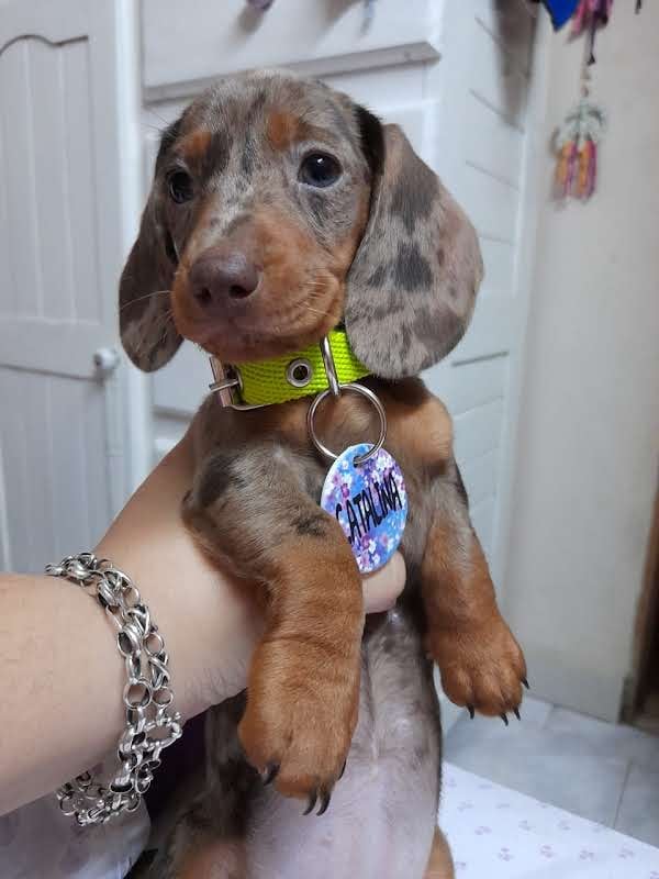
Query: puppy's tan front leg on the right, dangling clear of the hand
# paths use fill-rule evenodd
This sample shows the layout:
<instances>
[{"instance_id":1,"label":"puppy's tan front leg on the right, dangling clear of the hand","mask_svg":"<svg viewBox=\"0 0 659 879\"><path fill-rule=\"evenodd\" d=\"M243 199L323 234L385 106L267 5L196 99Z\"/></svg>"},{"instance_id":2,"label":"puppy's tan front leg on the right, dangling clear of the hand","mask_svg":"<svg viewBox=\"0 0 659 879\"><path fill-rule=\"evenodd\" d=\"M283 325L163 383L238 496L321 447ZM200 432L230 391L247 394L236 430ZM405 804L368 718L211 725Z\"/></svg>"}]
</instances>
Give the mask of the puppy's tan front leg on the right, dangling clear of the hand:
<instances>
[{"instance_id":1,"label":"puppy's tan front leg on the right, dangling clear of the hand","mask_svg":"<svg viewBox=\"0 0 659 879\"><path fill-rule=\"evenodd\" d=\"M422 567L427 646L444 691L473 716L518 715L526 664L499 612L488 563L469 519L457 465L433 487L435 513Z\"/></svg>"}]
</instances>

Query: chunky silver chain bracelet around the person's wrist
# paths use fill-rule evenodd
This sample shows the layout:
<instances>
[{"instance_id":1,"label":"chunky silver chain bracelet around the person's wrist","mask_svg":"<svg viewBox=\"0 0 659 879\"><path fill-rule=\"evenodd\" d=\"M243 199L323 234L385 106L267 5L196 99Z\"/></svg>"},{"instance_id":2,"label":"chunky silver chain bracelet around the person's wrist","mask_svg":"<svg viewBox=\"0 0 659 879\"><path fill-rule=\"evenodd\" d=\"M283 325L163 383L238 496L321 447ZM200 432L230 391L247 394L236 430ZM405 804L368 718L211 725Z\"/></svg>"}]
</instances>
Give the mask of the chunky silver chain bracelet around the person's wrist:
<instances>
[{"instance_id":1,"label":"chunky silver chain bracelet around the person's wrist","mask_svg":"<svg viewBox=\"0 0 659 879\"><path fill-rule=\"evenodd\" d=\"M160 765L160 752L181 735L181 715L169 711L169 657L139 591L108 559L80 553L48 565L46 574L89 588L119 628L116 646L129 677L123 691L126 728L116 748L121 770L107 787L82 772L57 790L65 815L75 816L81 826L104 824L137 809Z\"/></svg>"}]
</instances>

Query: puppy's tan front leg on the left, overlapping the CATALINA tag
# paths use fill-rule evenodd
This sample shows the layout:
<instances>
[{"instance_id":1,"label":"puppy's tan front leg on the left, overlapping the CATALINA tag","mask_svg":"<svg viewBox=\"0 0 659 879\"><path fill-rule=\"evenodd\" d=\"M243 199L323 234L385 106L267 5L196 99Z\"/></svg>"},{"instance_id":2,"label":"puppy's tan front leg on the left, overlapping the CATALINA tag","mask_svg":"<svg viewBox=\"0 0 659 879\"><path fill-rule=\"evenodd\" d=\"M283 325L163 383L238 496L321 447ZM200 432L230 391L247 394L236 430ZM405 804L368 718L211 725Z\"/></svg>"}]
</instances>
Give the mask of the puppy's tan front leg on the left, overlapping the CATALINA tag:
<instances>
[{"instance_id":1,"label":"puppy's tan front leg on the left, overlapping the CATALINA tag","mask_svg":"<svg viewBox=\"0 0 659 879\"><path fill-rule=\"evenodd\" d=\"M220 567L254 585L265 611L238 727L247 759L322 813L359 701L361 581L344 533L269 447L213 453L183 519Z\"/></svg>"}]
</instances>

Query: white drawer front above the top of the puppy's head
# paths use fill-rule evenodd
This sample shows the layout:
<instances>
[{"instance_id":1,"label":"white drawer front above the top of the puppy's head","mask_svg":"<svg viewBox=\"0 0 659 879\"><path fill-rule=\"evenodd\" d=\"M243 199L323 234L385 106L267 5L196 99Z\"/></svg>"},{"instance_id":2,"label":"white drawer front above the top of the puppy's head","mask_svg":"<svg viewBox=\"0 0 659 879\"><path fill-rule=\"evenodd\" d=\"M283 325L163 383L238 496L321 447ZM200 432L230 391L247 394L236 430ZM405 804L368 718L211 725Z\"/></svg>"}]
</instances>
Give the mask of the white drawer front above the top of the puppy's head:
<instances>
[{"instance_id":1,"label":"white drawer front above the top of the puppy's head","mask_svg":"<svg viewBox=\"0 0 659 879\"><path fill-rule=\"evenodd\" d=\"M243 0L142 0L144 84L152 94L180 93L181 82L254 67L315 75L437 57L442 3L378 4L365 26L361 2L279 0L259 14Z\"/></svg>"}]
</instances>

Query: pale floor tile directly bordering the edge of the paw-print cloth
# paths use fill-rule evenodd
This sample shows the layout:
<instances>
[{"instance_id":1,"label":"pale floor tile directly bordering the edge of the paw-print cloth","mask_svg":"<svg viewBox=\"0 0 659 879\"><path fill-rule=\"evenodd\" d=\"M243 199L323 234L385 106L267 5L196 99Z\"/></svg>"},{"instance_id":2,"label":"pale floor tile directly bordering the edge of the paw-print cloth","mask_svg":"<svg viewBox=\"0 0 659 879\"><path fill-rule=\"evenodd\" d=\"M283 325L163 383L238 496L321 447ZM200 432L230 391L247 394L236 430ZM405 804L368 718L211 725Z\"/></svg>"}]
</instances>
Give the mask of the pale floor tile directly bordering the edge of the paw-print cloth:
<instances>
[{"instance_id":1,"label":"pale floor tile directly bordering the edge of the paw-print cloth","mask_svg":"<svg viewBox=\"0 0 659 879\"><path fill-rule=\"evenodd\" d=\"M571 736L515 723L460 721L446 737L447 760L500 785L613 826L628 760L593 756Z\"/></svg>"}]
</instances>

